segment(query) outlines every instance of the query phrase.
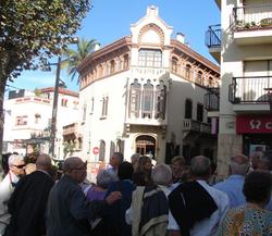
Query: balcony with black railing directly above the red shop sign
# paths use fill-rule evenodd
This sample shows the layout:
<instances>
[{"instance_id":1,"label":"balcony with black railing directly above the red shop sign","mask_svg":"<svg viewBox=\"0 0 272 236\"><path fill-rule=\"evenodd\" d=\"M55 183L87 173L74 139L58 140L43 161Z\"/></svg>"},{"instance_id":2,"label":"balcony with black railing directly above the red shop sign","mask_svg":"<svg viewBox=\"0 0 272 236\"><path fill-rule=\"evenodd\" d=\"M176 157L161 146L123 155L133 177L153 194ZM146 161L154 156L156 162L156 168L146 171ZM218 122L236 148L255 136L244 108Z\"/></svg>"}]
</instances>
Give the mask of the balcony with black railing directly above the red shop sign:
<instances>
[{"instance_id":1,"label":"balcony with black railing directly above the red shop sign","mask_svg":"<svg viewBox=\"0 0 272 236\"><path fill-rule=\"evenodd\" d=\"M269 111L271 87L272 76L233 77L228 100L234 104L234 111Z\"/></svg>"}]
</instances>

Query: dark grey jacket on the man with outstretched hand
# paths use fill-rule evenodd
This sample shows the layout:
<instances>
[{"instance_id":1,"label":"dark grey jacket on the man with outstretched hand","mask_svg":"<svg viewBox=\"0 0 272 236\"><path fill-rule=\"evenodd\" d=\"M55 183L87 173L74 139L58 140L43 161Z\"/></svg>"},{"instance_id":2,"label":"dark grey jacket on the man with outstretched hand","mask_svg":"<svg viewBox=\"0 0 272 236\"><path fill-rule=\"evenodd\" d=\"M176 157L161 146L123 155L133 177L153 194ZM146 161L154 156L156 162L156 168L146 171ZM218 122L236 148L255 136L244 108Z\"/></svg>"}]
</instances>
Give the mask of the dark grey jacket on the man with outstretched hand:
<instances>
[{"instance_id":1,"label":"dark grey jacket on the man with outstretched hand","mask_svg":"<svg viewBox=\"0 0 272 236\"><path fill-rule=\"evenodd\" d=\"M47 236L87 236L89 221L104 211L104 201L88 201L79 185L64 175L49 195Z\"/></svg>"}]
</instances>

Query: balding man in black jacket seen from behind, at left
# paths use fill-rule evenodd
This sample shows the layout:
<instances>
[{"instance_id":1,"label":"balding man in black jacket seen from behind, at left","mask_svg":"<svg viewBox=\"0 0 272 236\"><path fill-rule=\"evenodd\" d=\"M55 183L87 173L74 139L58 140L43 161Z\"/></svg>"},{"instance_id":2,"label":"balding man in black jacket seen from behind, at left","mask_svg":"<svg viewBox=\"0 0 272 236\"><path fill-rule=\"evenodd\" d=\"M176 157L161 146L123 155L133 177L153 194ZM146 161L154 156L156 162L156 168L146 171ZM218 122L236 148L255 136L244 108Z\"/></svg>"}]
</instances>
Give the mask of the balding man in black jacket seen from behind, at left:
<instances>
[{"instance_id":1,"label":"balding man in black jacket seen from behind, at left","mask_svg":"<svg viewBox=\"0 0 272 236\"><path fill-rule=\"evenodd\" d=\"M51 159L39 154L36 171L23 177L9 202L11 222L4 236L40 236L46 234L47 198L53 181L49 175Z\"/></svg>"}]
</instances>

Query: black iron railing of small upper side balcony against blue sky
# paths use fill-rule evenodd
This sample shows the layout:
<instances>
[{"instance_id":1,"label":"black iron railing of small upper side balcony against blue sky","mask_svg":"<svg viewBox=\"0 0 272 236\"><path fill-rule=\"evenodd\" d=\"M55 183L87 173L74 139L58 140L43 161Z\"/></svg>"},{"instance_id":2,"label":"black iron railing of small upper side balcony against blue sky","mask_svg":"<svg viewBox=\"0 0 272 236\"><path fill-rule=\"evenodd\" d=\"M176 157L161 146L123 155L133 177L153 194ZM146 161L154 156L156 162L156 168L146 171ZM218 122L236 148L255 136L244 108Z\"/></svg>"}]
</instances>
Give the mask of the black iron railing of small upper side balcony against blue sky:
<instances>
[{"instance_id":1,"label":"black iron railing of small upper side balcony against blue sky","mask_svg":"<svg viewBox=\"0 0 272 236\"><path fill-rule=\"evenodd\" d=\"M210 25L206 32L206 46L208 48L220 48L221 47L221 25Z\"/></svg>"}]
</instances>

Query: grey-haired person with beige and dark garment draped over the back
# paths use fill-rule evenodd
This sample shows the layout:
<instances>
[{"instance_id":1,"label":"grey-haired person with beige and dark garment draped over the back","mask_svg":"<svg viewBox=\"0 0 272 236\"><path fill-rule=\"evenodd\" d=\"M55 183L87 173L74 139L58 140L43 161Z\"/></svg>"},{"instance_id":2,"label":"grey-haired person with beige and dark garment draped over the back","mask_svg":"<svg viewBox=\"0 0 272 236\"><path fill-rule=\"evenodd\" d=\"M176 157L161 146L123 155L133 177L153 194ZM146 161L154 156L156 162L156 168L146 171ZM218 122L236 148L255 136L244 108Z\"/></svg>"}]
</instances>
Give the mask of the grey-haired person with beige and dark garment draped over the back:
<instances>
[{"instance_id":1,"label":"grey-haired person with beige and dark garment draped over the back","mask_svg":"<svg viewBox=\"0 0 272 236\"><path fill-rule=\"evenodd\" d=\"M169 206L169 186L172 171L166 164L158 164L151 173L152 185L139 186L133 192L131 208L126 211L126 223L132 224L132 235L165 235Z\"/></svg>"}]
</instances>

